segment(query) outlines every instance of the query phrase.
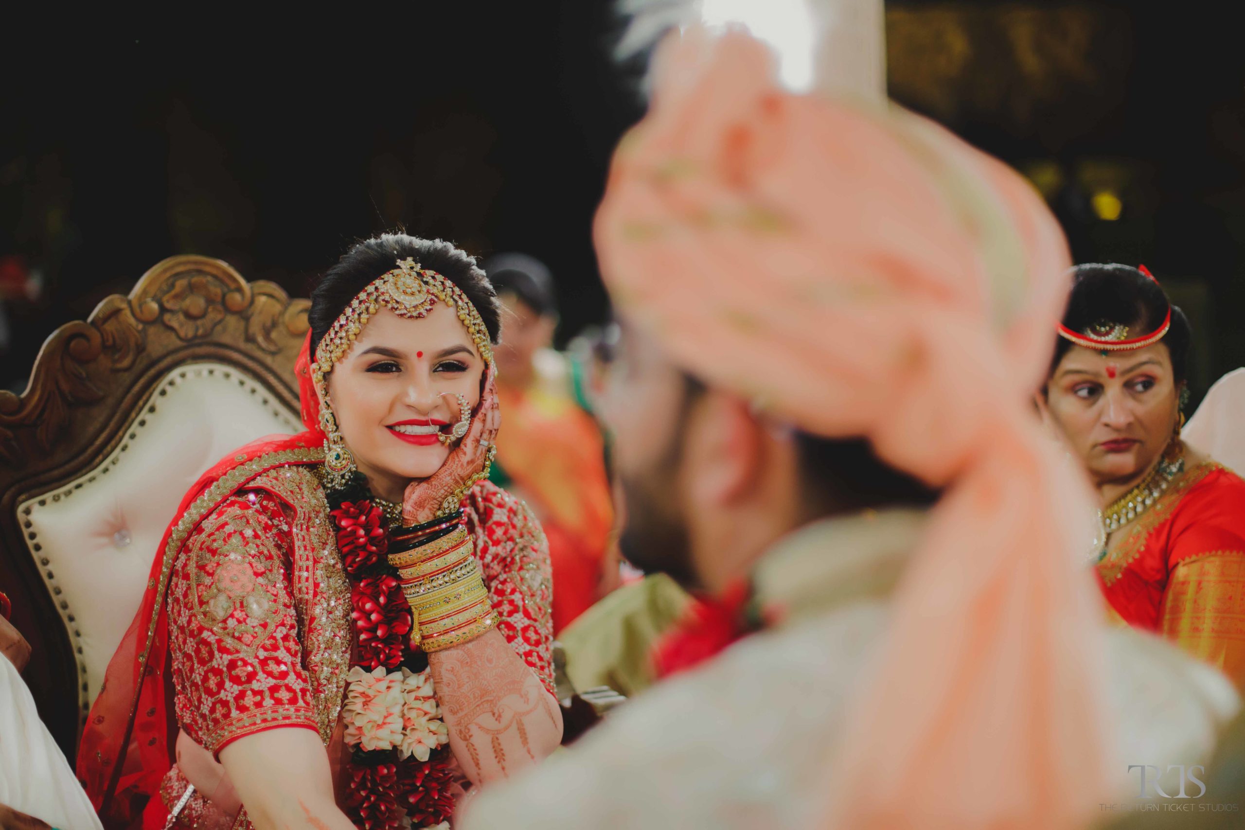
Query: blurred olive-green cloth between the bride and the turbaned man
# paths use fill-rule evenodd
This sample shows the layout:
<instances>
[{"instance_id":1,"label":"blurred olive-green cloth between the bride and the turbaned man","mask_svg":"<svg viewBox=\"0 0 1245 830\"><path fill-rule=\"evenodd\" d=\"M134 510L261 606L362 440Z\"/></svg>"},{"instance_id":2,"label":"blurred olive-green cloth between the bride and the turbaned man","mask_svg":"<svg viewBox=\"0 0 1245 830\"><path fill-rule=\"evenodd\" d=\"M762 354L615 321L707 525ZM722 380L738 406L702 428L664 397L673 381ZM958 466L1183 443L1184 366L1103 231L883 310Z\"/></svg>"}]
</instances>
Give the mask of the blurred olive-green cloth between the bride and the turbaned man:
<instances>
[{"instance_id":1,"label":"blurred olive-green cloth between the bride and the turbaned man","mask_svg":"<svg viewBox=\"0 0 1245 830\"><path fill-rule=\"evenodd\" d=\"M665 574L624 585L559 635L576 689L609 686L634 697L652 684L652 645L684 615L687 594Z\"/></svg>"}]
</instances>

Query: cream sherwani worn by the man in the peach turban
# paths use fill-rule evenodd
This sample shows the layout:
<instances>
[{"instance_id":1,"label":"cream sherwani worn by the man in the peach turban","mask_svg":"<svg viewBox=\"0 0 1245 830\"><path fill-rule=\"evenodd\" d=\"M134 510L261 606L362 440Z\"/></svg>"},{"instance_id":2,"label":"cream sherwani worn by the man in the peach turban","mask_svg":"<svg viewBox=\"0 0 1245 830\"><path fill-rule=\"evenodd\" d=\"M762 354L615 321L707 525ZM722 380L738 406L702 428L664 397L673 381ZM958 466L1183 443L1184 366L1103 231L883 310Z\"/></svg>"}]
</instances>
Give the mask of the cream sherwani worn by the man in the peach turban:
<instances>
[{"instance_id":1,"label":"cream sherwani worn by the man in the peach turban","mask_svg":"<svg viewBox=\"0 0 1245 830\"><path fill-rule=\"evenodd\" d=\"M849 699L923 521L915 511L869 513L789 535L754 572L761 601L787 611L782 625L654 687L525 776L482 791L456 826L813 828ZM1123 800L1138 785L1128 765L1204 759L1239 701L1218 671L1155 637L1106 636L1119 789L1103 799Z\"/></svg>"}]
</instances>

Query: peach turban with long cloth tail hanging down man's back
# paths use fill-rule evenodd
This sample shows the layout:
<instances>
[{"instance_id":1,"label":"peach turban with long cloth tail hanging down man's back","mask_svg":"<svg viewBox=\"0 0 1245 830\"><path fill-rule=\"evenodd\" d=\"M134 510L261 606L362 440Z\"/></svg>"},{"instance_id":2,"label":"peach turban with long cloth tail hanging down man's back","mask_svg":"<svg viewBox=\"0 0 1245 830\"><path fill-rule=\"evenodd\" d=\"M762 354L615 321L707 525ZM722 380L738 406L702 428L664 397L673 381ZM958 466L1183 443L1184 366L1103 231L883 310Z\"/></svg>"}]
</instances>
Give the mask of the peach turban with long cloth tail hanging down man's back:
<instances>
[{"instance_id":1,"label":"peach turban with long cloth tail hanging down man's back","mask_svg":"<svg viewBox=\"0 0 1245 830\"><path fill-rule=\"evenodd\" d=\"M1063 828L1104 785L1092 497L1031 408L1068 290L1037 194L903 111L791 95L672 36L595 241L620 311L712 386L945 487L833 776L835 828ZM834 555L834 551L827 551Z\"/></svg>"}]
</instances>

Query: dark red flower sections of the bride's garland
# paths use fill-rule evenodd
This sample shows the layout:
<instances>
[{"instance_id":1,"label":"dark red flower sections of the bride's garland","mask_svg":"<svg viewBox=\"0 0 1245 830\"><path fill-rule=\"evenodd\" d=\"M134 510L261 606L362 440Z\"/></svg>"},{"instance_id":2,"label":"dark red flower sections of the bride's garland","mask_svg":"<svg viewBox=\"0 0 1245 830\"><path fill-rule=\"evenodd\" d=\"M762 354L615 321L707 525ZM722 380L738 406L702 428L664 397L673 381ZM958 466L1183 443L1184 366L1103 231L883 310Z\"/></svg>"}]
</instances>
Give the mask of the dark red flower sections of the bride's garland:
<instances>
[{"instance_id":1,"label":"dark red flower sections of the bride's garland","mask_svg":"<svg viewBox=\"0 0 1245 830\"><path fill-rule=\"evenodd\" d=\"M352 666L395 669L410 648L415 615L395 571L385 559L388 530L380 506L364 499L330 510L337 550L350 579L351 620L359 643ZM362 753L370 755L371 753ZM453 764L444 749L427 762L396 762L391 750L380 763L352 763L344 796L351 821L362 830L397 830L402 806L413 828L447 821L453 814Z\"/></svg>"}]
</instances>

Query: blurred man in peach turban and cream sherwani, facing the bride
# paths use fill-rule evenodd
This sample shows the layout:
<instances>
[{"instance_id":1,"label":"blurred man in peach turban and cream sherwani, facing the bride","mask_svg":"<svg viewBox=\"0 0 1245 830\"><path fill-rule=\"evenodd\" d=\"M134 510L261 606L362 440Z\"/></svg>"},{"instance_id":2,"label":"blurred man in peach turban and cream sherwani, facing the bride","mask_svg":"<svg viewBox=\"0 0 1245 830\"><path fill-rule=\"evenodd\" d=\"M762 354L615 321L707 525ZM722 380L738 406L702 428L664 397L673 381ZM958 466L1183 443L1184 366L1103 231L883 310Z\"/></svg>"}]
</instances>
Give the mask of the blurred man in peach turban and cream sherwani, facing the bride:
<instances>
[{"instance_id":1,"label":"blurred man in peach turban and cream sherwani, facing the bride","mask_svg":"<svg viewBox=\"0 0 1245 830\"><path fill-rule=\"evenodd\" d=\"M595 221L605 412L624 550L713 601L674 677L456 826L1079 828L1129 764L1204 757L1236 694L1106 625L1087 483L1030 403L1069 266L1040 197L921 117L784 91L740 31L655 61Z\"/></svg>"}]
</instances>

